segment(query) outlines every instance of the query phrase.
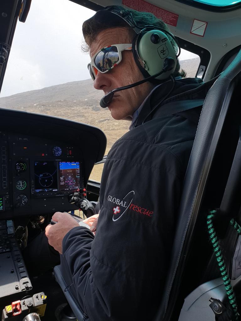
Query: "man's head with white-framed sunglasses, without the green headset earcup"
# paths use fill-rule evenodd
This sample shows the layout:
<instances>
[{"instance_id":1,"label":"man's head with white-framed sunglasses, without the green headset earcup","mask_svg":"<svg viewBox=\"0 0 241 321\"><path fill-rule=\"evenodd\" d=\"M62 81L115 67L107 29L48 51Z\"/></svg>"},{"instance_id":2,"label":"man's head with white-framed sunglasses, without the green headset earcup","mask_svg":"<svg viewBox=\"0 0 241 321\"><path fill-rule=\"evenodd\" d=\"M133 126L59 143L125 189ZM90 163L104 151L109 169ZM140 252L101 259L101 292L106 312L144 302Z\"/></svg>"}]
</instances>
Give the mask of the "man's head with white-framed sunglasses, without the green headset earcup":
<instances>
[{"instance_id":1,"label":"man's head with white-framed sunglasses, without the green headset earcup","mask_svg":"<svg viewBox=\"0 0 241 321\"><path fill-rule=\"evenodd\" d=\"M128 12L131 12L137 26L154 25L168 30L165 23L152 13L135 10ZM86 51L89 51L92 59L89 68L95 89L103 90L106 94L115 88L147 78L141 71L142 67L136 63L131 50L136 32L121 17L108 10L100 10L84 22L83 35L87 44ZM183 76L183 71L179 70L180 65L177 61L175 77ZM118 120L131 119L134 111L155 85L153 82L145 82L137 87L116 92L108 105L112 117Z\"/></svg>"}]
</instances>

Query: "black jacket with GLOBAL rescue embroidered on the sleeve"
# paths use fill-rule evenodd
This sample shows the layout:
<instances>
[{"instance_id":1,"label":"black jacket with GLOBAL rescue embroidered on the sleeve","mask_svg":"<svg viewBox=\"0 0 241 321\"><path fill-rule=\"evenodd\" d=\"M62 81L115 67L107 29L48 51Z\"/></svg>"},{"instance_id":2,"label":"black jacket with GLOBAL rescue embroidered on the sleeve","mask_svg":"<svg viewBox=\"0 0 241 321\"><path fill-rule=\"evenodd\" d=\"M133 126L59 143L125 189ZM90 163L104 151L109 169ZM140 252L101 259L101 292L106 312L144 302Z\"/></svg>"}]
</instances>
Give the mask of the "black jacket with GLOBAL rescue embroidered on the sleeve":
<instances>
[{"instance_id":1,"label":"black jacket with GLOBAL rescue embroidered on the sleeve","mask_svg":"<svg viewBox=\"0 0 241 321\"><path fill-rule=\"evenodd\" d=\"M204 99L212 82L187 78L171 97ZM63 240L63 261L77 300L92 321L151 320L162 298L183 178L201 111L195 108L141 124L171 83L154 91L136 127L111 148L100 190L95 237L84 227Z\"/></svg>"}]
</instances>

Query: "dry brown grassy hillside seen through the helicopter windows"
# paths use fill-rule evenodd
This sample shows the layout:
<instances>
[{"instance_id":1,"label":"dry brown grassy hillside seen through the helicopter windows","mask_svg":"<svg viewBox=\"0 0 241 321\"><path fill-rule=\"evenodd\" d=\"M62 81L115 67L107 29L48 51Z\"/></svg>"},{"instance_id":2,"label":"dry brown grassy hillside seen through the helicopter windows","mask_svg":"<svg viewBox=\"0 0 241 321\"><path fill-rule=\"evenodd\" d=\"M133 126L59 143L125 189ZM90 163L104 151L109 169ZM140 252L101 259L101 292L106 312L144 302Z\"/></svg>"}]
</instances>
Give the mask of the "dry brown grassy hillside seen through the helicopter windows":
<instances>
[{"instance_id":1,"label":"dry brown grassy hillside seen through the helicopter windows","mask_svg":"<svg viewBox=\"0 0 241 321\"><path fill-rule=\"evenodd\" d=\"M180 64L188 77L195 76L197 58L180 61ZM94 90L93 81L87 79L2 97L0 107L63 117L99 127L107 137L107 154L113 143L128 131L130 122L113 119L108 108L99 106L102 97L102 91ZM100 181L102 169L103 164L96 165L91 179Z\"/></svg>"}]
</instances>

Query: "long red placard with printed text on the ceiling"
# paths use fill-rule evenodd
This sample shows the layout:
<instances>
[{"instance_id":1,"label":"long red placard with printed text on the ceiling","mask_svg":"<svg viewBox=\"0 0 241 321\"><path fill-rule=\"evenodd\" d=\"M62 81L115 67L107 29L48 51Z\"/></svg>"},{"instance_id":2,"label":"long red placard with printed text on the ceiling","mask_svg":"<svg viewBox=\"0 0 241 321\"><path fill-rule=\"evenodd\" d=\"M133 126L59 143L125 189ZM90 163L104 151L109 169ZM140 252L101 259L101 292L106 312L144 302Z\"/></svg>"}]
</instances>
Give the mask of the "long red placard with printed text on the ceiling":
<instances>
[{"instance_id":1,"label":"long red placard with printed text on the ceiling","mask_svg":"<svg viewBox=\"0 0 241 321\"><path fill-rule=\"evenodd\" d=\"M178 14L159 8L143 0L122 0L122 4L131 9L153 13L157 18L162 19L167 24L176 27Z\"/></svg>"}]
</instances>

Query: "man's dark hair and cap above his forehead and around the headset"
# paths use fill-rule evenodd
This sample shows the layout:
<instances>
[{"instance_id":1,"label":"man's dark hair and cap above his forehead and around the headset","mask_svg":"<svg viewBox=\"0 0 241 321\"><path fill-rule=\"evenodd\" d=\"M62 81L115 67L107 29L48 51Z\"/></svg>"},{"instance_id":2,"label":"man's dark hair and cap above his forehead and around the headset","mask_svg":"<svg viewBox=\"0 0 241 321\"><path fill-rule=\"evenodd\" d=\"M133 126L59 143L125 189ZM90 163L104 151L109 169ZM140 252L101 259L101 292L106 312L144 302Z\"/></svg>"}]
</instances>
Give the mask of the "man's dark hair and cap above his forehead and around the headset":
<instances>
[{"instance_id":1,"label":"man's dark hair and cap above his forehead and around the headset","mask_svg":"<svg viewBox=\"0 0 241 321\"><path fill-rule=\"evenodd\" d=\"M152 13L140 12L130 9L127 10L124 8L123 10L132 14L132 17L138 26L152 25L169 31L165 22L163 22L161 19L156 18L156 16ZM93 17L91 17L83 23L82 30L87 46L82 46L82 50L89 51L89 47L91 46L92 42L96 39L97 35L102 30L115 27L125 27L129 32L130 42L132 42L134 37L136 36L136 32L118 15L115 15L107 10L97 11L97 13ZM172 39L170 40L173 46L175 47L174 41ZM183 69L180 70L180 64L178 59L173 74L174 77L186 76L186 72Z\"/></svg>"}]
</instances>

